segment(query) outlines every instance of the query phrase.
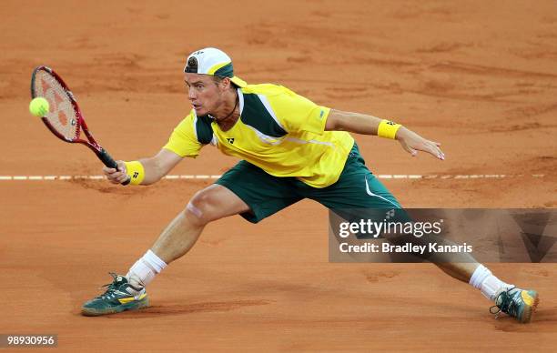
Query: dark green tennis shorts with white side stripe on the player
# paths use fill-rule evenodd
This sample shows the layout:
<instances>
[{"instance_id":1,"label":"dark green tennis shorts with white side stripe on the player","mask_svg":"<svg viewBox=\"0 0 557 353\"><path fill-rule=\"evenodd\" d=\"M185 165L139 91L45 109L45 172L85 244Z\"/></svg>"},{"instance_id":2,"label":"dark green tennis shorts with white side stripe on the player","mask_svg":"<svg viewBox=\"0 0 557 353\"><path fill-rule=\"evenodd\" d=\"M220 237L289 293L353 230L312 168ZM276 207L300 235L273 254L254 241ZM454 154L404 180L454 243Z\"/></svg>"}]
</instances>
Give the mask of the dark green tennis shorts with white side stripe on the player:
<instances>
[{"instance_id":1,"label":"dark green tennis shorts with white side stripe on the player","mask_svg":"<svg viewBox=\"0 0 557 353\"><path fill-rule=\"evenodd\" d=\"M309 187L293 176L271 176L244 160L215 183L227 187L249 206L250 211L241 216L252 223L258 223L306 197L333 211L400 208L395 197L370 172L356 143L350 150L339 180L329 187Z\"/></svg>"}]
</instances>

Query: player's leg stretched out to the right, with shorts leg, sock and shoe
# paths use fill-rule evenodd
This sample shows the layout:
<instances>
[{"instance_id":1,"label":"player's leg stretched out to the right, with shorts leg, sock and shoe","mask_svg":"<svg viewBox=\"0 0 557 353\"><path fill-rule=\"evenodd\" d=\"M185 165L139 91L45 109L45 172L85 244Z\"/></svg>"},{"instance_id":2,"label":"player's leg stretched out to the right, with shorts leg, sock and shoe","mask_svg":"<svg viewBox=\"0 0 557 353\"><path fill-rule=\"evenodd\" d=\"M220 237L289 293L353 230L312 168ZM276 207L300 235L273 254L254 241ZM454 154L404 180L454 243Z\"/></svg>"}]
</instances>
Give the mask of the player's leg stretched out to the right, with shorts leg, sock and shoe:
<instances>
[{"instance_id":1,"label":"player's leg stretched out to the right, with shorts leg, sock and shoe","mask_svg":"<svg viewBox=\"0 0 557 353\"><path fill-rule=\"evenodd\" d=\"M315 199L335 212L346 209L401 208L396 198L365 166L356 145L352 148L337 183L322 189L304 186L300 188L306 190L304 196ZM537 305L538 295L535 291L515 288L501 281L468 253L435 254L430 261L451 277L480 289L501 311L521 322L531 319L532 310Z\"/></svg>"}]
</instances>

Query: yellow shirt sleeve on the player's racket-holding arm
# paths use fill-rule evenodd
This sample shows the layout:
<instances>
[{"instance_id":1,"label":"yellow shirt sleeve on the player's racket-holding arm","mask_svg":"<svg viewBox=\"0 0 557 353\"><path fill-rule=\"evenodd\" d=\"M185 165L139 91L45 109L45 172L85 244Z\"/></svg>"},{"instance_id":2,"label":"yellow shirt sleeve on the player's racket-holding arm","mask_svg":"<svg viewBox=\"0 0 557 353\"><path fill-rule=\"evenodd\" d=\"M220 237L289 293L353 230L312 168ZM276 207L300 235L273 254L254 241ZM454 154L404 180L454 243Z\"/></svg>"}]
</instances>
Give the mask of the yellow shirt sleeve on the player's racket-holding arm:
<instances>
[{"instance_id":1,"label":"yellow shirt sleeve on the player's racket-holding arm","mask_svg":"<svg viewBox=\"0 0 557 353\"><path fill-rule=\"evenodd\" d=\"M197 141L196 133L196 120L197 117L192 112L184 120L182 120L170 135L166 148L178 156L189 156L197 157L199 156L199 151L203 146L199 141Z\"/></svg>"}]
</instances>

